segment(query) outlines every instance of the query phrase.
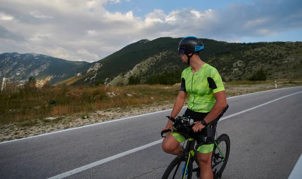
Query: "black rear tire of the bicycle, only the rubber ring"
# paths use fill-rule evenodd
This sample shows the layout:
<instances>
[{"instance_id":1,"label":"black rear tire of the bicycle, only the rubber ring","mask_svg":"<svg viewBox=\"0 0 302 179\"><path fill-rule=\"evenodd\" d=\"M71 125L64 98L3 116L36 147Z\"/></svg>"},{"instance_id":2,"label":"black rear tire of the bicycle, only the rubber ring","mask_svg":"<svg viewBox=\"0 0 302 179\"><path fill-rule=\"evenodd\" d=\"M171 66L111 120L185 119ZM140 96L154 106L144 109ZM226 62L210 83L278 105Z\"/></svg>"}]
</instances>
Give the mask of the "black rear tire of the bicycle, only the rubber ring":
<instances>
[{"instance_id":1,"label":"black rear tire of the bicycle, only the rubber ring","mask_svg":"<svg viewBox=\"0 0 302 179\"><path fill-rule=\"evenodd\" d=\"M225 153L223 153L224 155L224 161L222 161L222 166L219 168L218 171L214 171L213 173L216 175L216 177L221 178L222 172L226 166L226 163L228 163L228 159L229 159L229 155L230 155L230 148L231 148L231 142L230 142L230 137L227 134L221 134L217 140L215 140L216 142L218 142L218 146L219 144L221 144L221 142L225 142L226 144L226 151ZM220 146L219 146L220 148ZM221 157L220 156L220 152L217 149L216 145L214 144L214 148L213 148L213 153L212 153L212 167L213 167L213 160L214 160L214 156L216 157ZM214 169L214 168L213 168Z\"/></svg>"}]
</instances>

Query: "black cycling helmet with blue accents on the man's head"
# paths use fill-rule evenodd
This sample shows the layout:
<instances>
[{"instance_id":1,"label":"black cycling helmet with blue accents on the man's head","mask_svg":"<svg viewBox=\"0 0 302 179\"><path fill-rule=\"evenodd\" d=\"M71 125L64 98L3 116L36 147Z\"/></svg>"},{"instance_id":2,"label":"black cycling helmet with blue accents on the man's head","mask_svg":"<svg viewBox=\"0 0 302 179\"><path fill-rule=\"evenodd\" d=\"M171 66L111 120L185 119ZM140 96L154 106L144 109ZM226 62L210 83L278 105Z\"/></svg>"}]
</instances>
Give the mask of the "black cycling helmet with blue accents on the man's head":
<instances>
[{"instance_id":1,"label":"black cycling helmet with blue accents on the man's head","mask_svg":"<svg viewBox=\"0 0 302 179\"><path fill-rule=\"evenodd\" d=\"M195 36L187 36L183 38L178 45L178 52L182 54L190 54L203 49L203 43Z\"/></svg>"}]
</instances>

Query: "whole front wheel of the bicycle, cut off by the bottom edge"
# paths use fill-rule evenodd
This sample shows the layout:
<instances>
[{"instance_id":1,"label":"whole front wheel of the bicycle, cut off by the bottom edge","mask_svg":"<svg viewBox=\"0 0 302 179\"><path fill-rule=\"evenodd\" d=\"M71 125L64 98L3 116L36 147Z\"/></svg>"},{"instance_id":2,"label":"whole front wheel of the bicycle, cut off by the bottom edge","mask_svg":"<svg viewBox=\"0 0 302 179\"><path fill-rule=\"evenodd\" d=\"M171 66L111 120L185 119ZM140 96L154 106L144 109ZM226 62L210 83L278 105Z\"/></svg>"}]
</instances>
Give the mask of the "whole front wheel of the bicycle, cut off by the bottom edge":
<instances>
[{"instance_id":1,"label":"whole front wheel of the bicycle, cut off by the bottom edge","mask_svg":"<svg viewBox=\"0 0 302 179\"><path fill-rule=\"evenodd\" d=\"M187 162L188 165L187 165ZM187 171L185 167L187 166ZM188 161L188 156L180 154L167 167L162 179L191 179L192 177L192 161Z\"/></svg>"}]
</instances>

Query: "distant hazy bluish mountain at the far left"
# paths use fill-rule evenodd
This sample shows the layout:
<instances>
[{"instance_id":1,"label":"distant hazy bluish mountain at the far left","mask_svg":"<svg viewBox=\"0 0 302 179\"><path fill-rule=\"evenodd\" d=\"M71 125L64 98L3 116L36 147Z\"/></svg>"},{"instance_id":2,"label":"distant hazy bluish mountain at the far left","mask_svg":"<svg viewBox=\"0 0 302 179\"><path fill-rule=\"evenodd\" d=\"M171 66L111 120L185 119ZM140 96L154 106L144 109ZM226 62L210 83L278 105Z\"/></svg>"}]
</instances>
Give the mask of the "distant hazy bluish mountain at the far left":
<instances>
[{"instance_id":1,"label":"distant hazy bluish mountain at the far left","mask_svg":"<svg viewBox=\"0 0 302 179\"><path fill-rule=\"evenodd\" d=\"M47 80L54 84L76 76L86 69L87 64L89 63L84 61L67 61L35 53L3 53L0 54L0 76L18 84L23 84L30 76L34 76L38 86L42 86Z\"/></svg>"}]
</instances>

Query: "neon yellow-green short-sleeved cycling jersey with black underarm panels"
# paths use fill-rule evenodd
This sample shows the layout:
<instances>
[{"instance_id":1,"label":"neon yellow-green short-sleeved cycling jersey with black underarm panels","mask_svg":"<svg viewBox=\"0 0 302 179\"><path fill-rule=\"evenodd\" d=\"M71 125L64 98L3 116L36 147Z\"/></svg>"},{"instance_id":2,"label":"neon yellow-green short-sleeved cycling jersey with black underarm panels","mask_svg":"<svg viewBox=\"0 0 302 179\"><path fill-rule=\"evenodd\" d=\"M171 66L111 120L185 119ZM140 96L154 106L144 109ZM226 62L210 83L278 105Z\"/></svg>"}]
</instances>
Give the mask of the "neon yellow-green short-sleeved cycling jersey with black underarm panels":
<instances>
[{"instance_id":1,"label":"neon yellow-green short-sleeved cycling jersey with black underarm panels","mask_svg":"<svg viewBox=\"0 0 302 179\"><path fill-rule=\"evenodd\" d=\"M205 63L192 73L191 66L183 70L180 91L190 94L188 108L195 112L207 113L216 103L214 93L224 91L224 85L216 68Z\"/></svg>"}]
</instances>

